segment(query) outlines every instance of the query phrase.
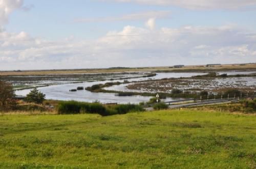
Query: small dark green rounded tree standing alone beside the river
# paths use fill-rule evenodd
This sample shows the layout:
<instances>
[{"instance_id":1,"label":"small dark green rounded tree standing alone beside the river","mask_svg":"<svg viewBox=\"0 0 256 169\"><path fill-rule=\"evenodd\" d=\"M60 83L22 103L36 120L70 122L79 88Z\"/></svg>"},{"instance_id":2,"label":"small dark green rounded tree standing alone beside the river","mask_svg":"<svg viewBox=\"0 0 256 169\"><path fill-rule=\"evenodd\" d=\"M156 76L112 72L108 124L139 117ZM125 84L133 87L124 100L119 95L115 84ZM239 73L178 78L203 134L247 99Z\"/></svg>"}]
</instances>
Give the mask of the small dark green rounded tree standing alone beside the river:
<instances>
[{"instance_id":1,"label":"small dark green rounded tree standing alone beside the river","mask_svg":"<svg viewBox=\"0 0 256 169\"><path fill-rule=\"evenodd\" d=\"M36 88L31 90L30 93L26 96L25 101L30 103L42 104L44 102L46 95L41 93Z\"/></svg>"}]
</instances>

